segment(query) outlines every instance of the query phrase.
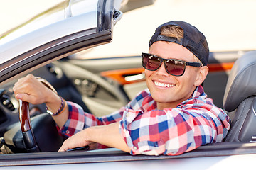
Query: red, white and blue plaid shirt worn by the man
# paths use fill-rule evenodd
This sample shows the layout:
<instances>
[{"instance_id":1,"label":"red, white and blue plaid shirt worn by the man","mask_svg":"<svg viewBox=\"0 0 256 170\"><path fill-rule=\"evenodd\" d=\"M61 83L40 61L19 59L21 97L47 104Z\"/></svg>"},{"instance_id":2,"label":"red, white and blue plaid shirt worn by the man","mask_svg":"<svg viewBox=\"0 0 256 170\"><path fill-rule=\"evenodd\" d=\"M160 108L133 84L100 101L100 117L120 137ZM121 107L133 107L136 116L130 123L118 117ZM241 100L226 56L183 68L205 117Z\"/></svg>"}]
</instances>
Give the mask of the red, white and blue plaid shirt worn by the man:
<instances>
[{"instance_id":1,"label":"red, white and blue plaid shirt worn by the man","mask_svg":"<svg viewBox=\"0 0 256 170\"><path fill-rule=\"evenodd\" d=\"M207 143L221 142L230 129L230 118L207 98L202 86L176 108L164 110L157 110L148 89L119 111L101 118L84 113L75 103L68 102L68 108L69 118L60 129L63 135L119 121L120 133L131 154L182 154Z\"/></svg>"}]
</instances>

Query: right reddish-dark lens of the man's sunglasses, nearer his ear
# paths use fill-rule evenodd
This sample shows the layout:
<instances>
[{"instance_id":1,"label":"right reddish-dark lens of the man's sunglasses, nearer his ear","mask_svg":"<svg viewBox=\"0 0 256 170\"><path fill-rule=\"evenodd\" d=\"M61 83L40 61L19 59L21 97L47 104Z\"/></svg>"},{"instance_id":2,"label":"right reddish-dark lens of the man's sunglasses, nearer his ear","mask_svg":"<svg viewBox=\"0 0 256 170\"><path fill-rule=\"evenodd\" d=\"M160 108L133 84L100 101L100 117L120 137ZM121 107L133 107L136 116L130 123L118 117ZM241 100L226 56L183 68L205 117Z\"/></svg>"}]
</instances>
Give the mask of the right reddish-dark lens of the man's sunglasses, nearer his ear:
<instances>
[{"instance_id":1,"label":"right reddish-dark lens of the man's sunglasses, nearer his ear","mask_svg":"<svg viewBox=\"0 0 256 170\"><path fill-rule=\"evenodd\" d=\"M180 76L184 72L185 63L177 60L167 60L166 69L169 72L169 74L172 74L174 76Z\"/></svg>"}]
</instances>

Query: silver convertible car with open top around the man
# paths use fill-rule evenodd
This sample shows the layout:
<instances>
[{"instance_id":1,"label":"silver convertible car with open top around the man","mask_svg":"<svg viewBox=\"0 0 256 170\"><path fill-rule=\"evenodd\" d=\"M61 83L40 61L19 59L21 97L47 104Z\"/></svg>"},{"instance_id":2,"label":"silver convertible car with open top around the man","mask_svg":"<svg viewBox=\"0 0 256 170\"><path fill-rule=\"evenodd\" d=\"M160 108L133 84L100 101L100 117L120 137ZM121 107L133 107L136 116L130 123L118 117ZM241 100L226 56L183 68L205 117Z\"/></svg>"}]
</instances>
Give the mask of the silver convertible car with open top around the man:
<instances>
[{"instance_id":1,"label":"silver convertible car with open top around the man","mask_svg":"<svg viewBox=\"0 0 256 170\"><path fill-rule=\"evenodd\" d=\"M254 49L210 52L210 72L204 89L230 115L231 130L223 142L178 156L132 156L114 148L57 152L65 139L58 134L46 106L14 98L12 87L17 79L33 74L46 79L65 100L78 103L96 116L124 106L146 88L142 57L139 53L102 56L99 51L111 49L105 44L117 36L115 25L123 13L154 3L157 1L67 0L1 35L1 169L253 167L256 159Z\"/></svg>"}]
</instances>

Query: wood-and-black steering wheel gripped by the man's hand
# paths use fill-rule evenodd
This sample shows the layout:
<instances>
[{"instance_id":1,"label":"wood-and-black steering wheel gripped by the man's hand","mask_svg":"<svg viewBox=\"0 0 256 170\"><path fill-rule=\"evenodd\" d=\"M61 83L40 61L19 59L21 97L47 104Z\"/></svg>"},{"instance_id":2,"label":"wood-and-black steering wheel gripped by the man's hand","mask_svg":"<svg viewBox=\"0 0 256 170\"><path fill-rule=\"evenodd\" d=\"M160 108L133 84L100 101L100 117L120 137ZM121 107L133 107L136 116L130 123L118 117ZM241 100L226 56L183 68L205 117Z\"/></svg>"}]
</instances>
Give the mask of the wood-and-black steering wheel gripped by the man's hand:
<instances>
[{"instance_id":1,"label":"wood-and-black steering wheel gripped by the man's hand","mask_svg":"<svg viewBox=\"0 0 256 170\"><path fill-rule=\"evenodd\" d=\"M48 83L45 79L41 77L36 77L38 81L41 81L42 84L47 86L49 89L57 94L57 91L53 88L53 86ZM19 100L19 120L21 123L21 132L23 136L23 143L26 147L27 152L41 152L41 149L38 147L38 143L36 142L36 137L33 134L31 118L29 115L29 103L26 101ZM47 116L47 115L46 115ZM44 119L43 119L44 120Z\"/></svg>"}]
</instances>

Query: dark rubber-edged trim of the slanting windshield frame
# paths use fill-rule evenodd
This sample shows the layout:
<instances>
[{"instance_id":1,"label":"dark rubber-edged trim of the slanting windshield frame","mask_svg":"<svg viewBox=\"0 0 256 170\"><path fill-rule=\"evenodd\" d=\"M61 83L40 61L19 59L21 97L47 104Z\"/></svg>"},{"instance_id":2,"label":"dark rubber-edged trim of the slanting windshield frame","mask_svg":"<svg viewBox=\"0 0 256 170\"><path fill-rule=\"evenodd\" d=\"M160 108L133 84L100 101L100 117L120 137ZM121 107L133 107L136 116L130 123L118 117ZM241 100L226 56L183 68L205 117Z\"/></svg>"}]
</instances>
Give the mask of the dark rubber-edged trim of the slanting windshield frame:
<instances>
[{"instance_id":1,"label":"dark rubber-edged trim of the slanting windshield frame","mask_svg":"<svg viewBox=\"0 0 256 170\"><path fill-rule=\"evenodd\" d=\"M96 28L89 28L47 42L0 64L0 84L16 79L16 77L31 72L33 69L60 60L68 55L111 42L114 26L113 13L113 1L99 0Z\"/></svg>"}]
</instances>

